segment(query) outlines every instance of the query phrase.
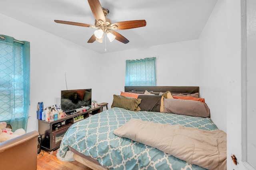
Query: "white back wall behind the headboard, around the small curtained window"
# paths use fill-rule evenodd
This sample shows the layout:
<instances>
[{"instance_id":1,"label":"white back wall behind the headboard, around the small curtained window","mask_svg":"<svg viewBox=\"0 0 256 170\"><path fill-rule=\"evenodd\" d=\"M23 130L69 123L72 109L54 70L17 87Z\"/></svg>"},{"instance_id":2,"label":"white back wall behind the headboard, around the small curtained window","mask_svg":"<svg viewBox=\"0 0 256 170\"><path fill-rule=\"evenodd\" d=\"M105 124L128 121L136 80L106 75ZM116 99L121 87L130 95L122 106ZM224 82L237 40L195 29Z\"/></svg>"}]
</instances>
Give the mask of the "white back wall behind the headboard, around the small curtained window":
<instances>
[{"instance_id":1,"label":"white back wall behind the headboard, around the small curtained window","mask_svg":"<svg viewBox=\"0 0 256 170\"><path fill-rule=\"evenodd\" d=\"M198 40L106 53L101 57L104 101L125 86L125 61L156 57L157 86L198 86Z\"/></svg>"}]
</instances>

